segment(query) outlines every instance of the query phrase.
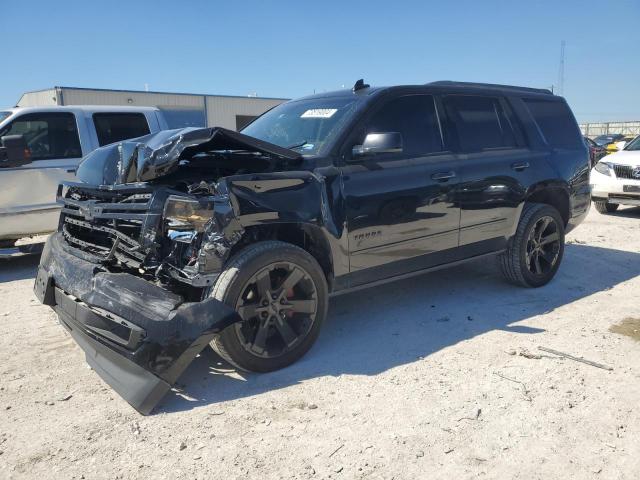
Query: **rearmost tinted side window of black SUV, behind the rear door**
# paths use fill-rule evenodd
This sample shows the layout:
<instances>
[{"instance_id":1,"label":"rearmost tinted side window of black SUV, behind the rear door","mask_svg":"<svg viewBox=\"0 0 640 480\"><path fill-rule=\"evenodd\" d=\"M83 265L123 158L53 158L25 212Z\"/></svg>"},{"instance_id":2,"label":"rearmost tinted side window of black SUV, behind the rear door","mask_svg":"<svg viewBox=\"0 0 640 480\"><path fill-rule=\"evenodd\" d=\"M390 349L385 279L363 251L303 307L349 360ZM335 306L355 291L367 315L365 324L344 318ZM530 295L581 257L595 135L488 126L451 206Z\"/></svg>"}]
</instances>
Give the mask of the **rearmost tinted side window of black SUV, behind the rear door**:
<instances>
[{"instance_id":1,"label":"rearmost tinted side window of black SUV, behind the rear door","mask_svg":"<svg viewBox=\"0 0 640 480\"><path fill-rule=\"evenodd\" d=\"M523 99L523 101L550 146L559 148L582 146L582 135L566 103L537 99Z\"/></svg>"}]
</instances>

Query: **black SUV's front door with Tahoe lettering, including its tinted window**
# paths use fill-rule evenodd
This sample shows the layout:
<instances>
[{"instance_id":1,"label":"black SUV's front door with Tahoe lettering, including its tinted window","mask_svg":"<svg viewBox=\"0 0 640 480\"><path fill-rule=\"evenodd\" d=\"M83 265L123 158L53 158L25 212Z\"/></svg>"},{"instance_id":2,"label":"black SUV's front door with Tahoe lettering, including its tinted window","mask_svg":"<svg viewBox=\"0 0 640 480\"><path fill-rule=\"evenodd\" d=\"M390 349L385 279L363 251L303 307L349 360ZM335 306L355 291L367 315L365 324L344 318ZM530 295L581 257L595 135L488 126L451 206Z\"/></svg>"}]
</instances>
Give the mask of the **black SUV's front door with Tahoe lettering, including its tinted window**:
<instances>
[{"instance_id":1,"label":"black SUV's front door with Tahoe lettering, including its tinted window","mask_svg":"<svg viewBox=\"0 0 640 480\"><path fill-rule=\"evenodd\" d=\"M354 129L347 151L369 133L397 132L398 153L351 157L342 168L351 284L421 270L446 261L458 245L454 202L457 159L443 143L434 97L381 101Z\"/></svg>"}]
</instances>

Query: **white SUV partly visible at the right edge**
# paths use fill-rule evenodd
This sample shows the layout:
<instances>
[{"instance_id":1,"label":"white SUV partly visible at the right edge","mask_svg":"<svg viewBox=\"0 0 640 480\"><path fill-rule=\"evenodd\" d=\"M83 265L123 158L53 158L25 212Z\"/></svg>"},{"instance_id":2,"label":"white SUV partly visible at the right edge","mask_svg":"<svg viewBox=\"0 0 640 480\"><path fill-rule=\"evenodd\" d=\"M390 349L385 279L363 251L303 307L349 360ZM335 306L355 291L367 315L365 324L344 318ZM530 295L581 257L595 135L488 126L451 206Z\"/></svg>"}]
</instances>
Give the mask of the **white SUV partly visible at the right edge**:
<instances>
[{"instance_id":1,"label":"white SUV partly visible at the right edge","mask_svg":"<svg viewBox=\"0 0 640 480\"><path fill-rule=\"evenodd\" d=\"M600 213L640 205L640 137L601 159L591 170L591 198Z\"/></svg>"}]
</instances>

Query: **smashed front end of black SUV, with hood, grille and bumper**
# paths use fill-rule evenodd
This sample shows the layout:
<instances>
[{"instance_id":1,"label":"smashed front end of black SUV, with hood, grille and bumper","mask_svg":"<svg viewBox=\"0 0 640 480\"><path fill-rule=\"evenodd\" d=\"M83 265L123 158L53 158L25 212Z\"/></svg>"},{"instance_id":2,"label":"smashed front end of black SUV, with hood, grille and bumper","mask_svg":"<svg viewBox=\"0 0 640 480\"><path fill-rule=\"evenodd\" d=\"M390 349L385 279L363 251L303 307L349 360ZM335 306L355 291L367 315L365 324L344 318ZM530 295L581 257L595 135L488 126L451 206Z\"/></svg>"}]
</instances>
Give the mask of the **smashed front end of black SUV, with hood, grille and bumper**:
<instances>
[{"instance_id":1,"label":"smashed front end of black SUV, with hood, grille and bumper","mask_svg":"<svg viewBox=\"0 0 640 480\"><path fill-rule=\"evenodd\" d=\"M275 189L317 193L310 172L273 173L301 161L226 129L185 129L99 149L78 171L86 183L59 187L59 231L35 293L139 412L150 413L213 336L242 320L207 289L242 238L240 203L252 205L256 174Z\"/></svg>"}]
</instances>

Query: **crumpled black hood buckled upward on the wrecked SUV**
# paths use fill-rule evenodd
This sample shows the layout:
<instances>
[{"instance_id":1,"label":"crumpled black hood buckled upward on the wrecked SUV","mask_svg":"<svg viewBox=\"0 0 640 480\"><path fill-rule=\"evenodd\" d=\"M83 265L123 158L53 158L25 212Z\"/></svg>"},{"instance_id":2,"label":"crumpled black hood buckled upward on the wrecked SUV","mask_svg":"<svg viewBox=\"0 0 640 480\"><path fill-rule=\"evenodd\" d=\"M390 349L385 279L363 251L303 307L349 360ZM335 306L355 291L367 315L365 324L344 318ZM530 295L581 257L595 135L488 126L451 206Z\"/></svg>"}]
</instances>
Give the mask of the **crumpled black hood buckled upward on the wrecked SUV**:
<instances>
[{"instance_id":1,"label":"crumpled black hood buckled upward on the wrecked SUV","mask_svg":"<svg viewBox=\"0 0 640 480\"><path fill-rule=\"evenodd\" d=\"M243 150L270 159L299 161L300 154L222 127L164 130L94 150L78 167L77 177L91 185L147 182L167 175L197 153Z\"/></svg>"}]
</instances>

